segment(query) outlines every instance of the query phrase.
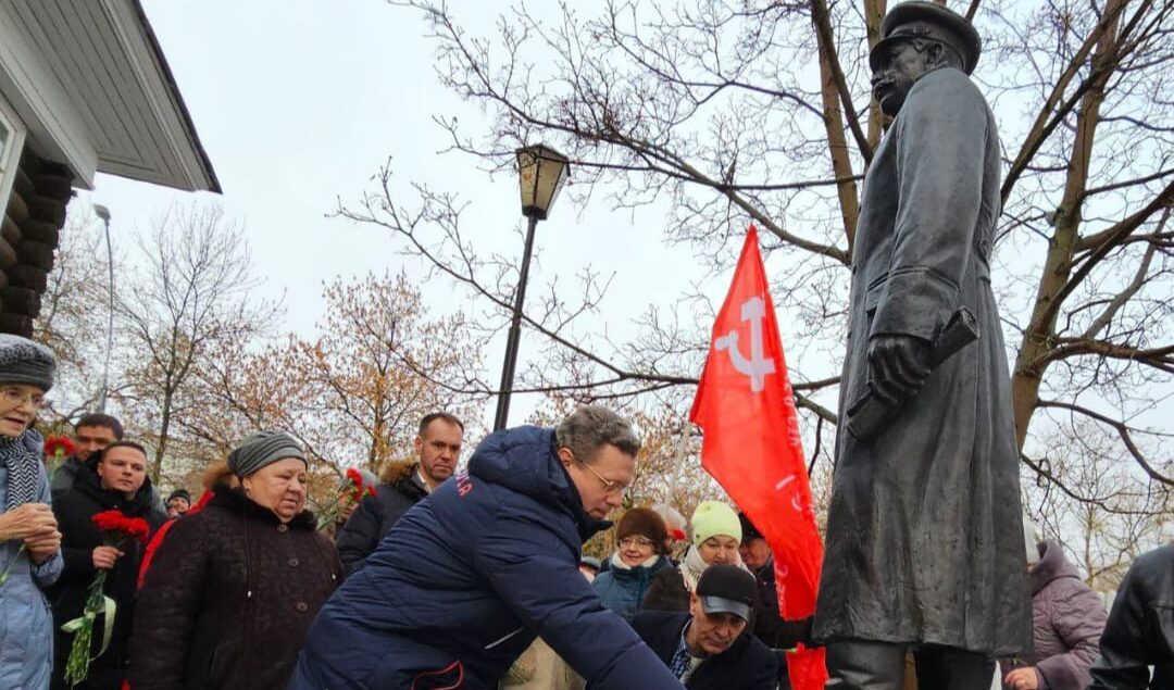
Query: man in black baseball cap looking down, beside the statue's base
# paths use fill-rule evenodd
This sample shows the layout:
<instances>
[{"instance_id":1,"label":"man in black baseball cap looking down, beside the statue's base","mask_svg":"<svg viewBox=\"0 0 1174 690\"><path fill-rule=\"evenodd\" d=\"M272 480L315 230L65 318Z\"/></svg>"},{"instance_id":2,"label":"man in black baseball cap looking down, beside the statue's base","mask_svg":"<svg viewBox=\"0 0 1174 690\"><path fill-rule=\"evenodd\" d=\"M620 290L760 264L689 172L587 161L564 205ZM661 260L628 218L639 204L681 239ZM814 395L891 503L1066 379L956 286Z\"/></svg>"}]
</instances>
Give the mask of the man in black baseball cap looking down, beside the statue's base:
<instances>
[{"instance_id":1,"label":"man in black baseball cap looking down, beside the statue's base","mask_svg":"<svg viewBox=\"0 0 1174 690\"><path fill-rule=\"evenodd\" d=\"M747 631L756 588L738 566L710 566L689 613L646 610L632 627L689 690L774 690L775 655Z\"/></svg>"}]
</instances>

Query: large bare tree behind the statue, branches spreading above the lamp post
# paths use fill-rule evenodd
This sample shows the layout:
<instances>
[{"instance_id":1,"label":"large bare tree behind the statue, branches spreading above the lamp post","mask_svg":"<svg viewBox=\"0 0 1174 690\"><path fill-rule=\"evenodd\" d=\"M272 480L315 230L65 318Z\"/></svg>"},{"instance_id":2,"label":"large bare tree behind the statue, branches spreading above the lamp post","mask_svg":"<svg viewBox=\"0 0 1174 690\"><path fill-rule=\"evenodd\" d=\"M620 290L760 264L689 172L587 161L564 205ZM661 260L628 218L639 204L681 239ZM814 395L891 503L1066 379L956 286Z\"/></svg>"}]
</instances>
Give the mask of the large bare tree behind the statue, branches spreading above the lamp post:
<instances>
[{"instance_id":1,"label":"large bare tree behind the statue, branches spreading above the lamp post","mask_svg":"<svg viewBox=\"0 0 1174 690\"><path fill-rule=\"evenodd\" d=\"M519 146L554 144L571 156L579 203L628 210L667 199L668 239L710 270L729 265L748 219L762 226L776 303L797 331L788 345L804 353L792 377L805 426L835 422L857 182L885 124L865 60L883 2L605 0L598 13L564 5L544 16L515 6L488 35L472 34L444 1L391 4L424 16L441 82L492 117L487 131L468 131L437 116L454 151L498 171ZM1174 485L1166 441L1146 417L1174 372L1174 6L974 0L959 9L986 39L976 79L1005 150L997 282L1013 334L1019 446L1032 449L1033 429L1044 438L1086 418L1152 480ZM517 261L461 234L454 194L417 185L409 202L390 169L379 181L342 215L391 230L468 291L487 331L500 329ZM585 269L569 291L552 286L527 307L542 364L515 390L608 398L695 383L708 336L697 316L711 307L682 296L674 309L650 307L635 339L614 343L579 326L607 284ZM471 387L495 390L488 379Z\"/></svg>"}]
</instances>

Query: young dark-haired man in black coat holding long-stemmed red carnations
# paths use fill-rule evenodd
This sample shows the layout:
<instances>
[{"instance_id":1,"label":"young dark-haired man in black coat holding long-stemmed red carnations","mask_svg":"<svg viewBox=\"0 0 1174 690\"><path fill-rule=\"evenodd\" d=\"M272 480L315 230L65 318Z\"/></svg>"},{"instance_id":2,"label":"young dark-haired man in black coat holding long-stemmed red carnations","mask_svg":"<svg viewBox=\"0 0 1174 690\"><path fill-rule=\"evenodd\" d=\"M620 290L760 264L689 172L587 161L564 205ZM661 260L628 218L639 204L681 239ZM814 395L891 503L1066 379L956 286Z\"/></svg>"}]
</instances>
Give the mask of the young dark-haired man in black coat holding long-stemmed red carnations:
<instances>
[{"instance_id":1,"label":"young dark-haired man in black coat holding long-stemmed red carnations","mask_svg":"<svg viewBox=\"0 0 1174 690\"><path fill-rule=\"evenodd\" d=\"M151 500L147 451L139 444L115 441L107 446L77 471L73 488L53 505L53 513L61 523L61 555L65 560L61 579L48 593L56 628L54 689L66 690L69 686L65 674L73 635L61 630L61 625L82 615L90 582L100 569L108 570L103 594L114 600L117 608L110 623L110 640L106 651L102 651L106 618L100 615L95 622L90 650L90 656L95 658L86 679L75 688L119 690L126 679L127 642L130 638L135 581L143 547L134 540L107 546L93 520L94 515L103 510L117 510L127 518L141 518L147 521L151 532L158 529L166 520L167 516L155 508Z\"/></svg>"}]
</instances>

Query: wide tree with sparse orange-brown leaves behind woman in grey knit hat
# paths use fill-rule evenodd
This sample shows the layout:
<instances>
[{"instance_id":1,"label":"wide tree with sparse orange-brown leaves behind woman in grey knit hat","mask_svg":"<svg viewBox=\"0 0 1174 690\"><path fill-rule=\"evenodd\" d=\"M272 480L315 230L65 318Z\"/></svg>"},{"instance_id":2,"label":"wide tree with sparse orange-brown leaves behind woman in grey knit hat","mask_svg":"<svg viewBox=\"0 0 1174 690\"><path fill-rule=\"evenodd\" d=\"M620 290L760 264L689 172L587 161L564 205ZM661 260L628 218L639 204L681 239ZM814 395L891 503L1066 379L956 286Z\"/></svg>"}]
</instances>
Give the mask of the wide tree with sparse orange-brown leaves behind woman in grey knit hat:
<instances>
[{"instance_id":1,"label":"wide tree with sparse orange-brown leaves behind woman in grey knit hat","mask_svg":"<svg viewBox=\"0 0 1174 690\"><path fill-rule=\"evenodd\" d=\"M312 338L235 344L195 372L198 413L183 420L210 458L243 435L281 428L296 437L321 475L315 502L332 499L349 467L378 473L412 453L420 419L446 411L478 425L473 400L432 380L461 380L480 353L459 317L427 311L407 278L337 278L324 286L325 317ZM430 372L431 380L416 373Z\"/></svg>"}]
</instances>

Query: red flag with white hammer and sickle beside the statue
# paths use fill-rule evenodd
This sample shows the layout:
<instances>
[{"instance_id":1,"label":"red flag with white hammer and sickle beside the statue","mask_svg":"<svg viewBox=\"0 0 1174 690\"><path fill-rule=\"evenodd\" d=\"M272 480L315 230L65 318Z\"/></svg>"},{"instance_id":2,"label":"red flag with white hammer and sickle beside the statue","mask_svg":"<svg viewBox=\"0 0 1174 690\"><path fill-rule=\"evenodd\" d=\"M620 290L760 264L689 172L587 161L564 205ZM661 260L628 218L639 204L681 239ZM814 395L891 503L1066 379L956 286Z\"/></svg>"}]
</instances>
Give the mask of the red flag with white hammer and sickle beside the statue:
<instances>
[{"instance_id":1,"label":"red flag with white hammer and sickle beside the statue","mask_svg":"<svg viewBox=\"0 0 1174 690\"><path fill-rule=\"evenodd\" d=\"M704 429L701 465L762 532L775 554L780 614L788 620L810 616L815 613L823 542L811 508L795 394L754 225L729 295L717 312L689 419ZM796 690L823 688L828 679L823 649L801 647L787 659Z\"/></svg>"}]
</instances>

